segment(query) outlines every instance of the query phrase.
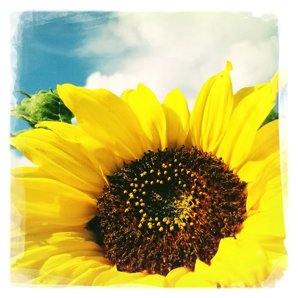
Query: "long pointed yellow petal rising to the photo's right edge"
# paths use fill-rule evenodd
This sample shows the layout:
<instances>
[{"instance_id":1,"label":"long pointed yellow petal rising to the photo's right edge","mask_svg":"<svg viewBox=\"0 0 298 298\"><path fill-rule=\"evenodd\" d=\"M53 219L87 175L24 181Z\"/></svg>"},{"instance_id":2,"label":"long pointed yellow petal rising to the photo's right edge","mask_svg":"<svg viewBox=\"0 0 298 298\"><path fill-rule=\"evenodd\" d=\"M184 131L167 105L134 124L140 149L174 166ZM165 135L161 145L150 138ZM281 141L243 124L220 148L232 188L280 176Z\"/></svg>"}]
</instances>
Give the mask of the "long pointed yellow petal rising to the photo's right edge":
<instances>
[{"instance_id":1,"label":"long pointed yellow petal rising to the photo's right edge","mask_svg":"<svg viewBox=\"0 0 298 298\"><path fill-rule=\"evenodd\" d=\"M217 153L230 168L240 165L249 154L258 129L276 104L277 94L278 73L235 108Z\"/></svg>"}]
</instances>

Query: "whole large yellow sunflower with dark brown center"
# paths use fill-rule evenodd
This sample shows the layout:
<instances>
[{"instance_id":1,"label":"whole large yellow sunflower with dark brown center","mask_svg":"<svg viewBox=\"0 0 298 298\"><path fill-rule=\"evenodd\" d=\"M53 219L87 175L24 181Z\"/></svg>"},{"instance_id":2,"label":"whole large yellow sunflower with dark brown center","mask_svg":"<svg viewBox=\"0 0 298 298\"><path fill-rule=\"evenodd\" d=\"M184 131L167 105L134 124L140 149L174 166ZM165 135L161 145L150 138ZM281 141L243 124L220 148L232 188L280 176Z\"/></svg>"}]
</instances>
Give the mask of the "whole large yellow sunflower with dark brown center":
<instances>
[{"instance_id":1,"label":"whole large yellow sunflower with dark brown center","mask_svg":"<svg viewBox=\"0 0 298 298\"><path fill-rule=\"evenodd\" d=\"M178 90L121 98L71 84L78 126L44 121L11 139L11 267L36 285L257 287L286 255L278 74L232 93L209 78L190 114Z\"/></svg>"}]
</instances>

